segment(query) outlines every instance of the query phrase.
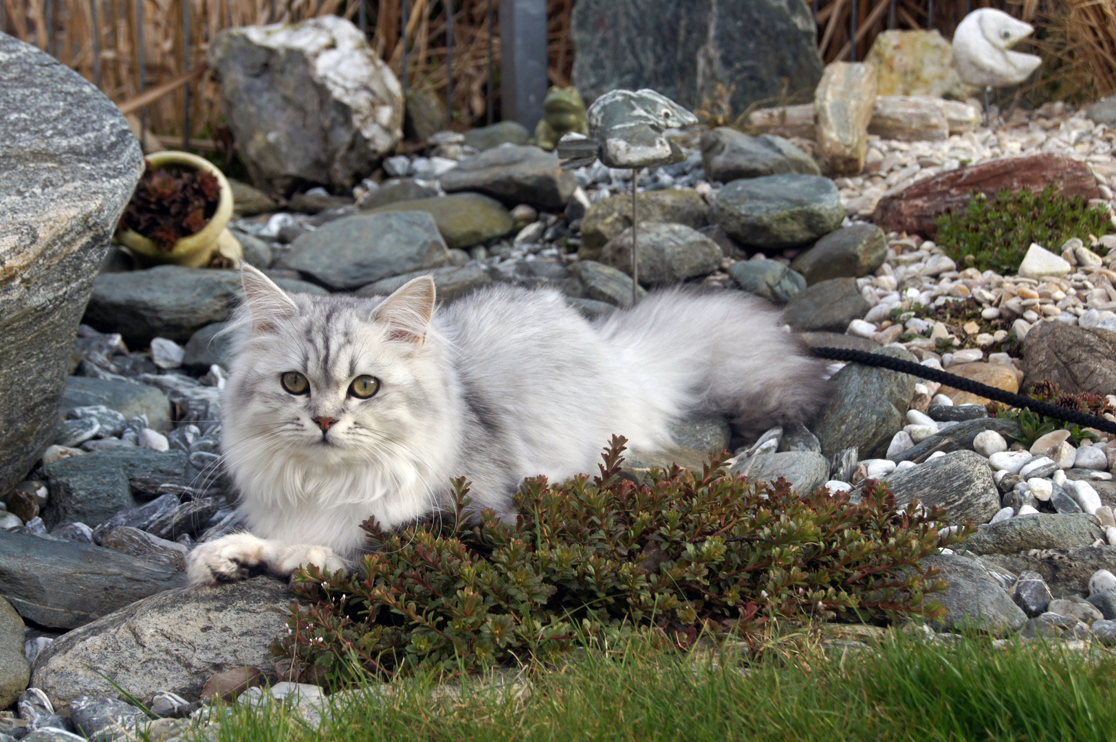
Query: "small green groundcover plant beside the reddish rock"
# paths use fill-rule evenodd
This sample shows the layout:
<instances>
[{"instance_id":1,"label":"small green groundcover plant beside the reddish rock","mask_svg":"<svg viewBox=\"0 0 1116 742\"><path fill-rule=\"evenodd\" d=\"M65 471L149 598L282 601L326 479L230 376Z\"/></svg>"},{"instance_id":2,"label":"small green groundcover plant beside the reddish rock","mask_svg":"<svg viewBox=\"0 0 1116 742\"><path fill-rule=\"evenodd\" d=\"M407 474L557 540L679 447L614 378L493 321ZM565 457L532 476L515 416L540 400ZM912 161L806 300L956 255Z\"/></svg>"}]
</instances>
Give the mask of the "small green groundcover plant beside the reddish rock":
<instances>
[{"instance_id":1,"label":"small green groundcover plant beside the reddish rock","mask_svg":"<svg viewBox=\"0 0 1116 742\"><path fill-rule=\"evenodd\" d=\"M1002 190L993 196L974 193L964 209L935 220L939 247L958 268L975 267L1012 274L1032 242L1051 252L1070 238L1086 244L1089 235L1112 231L1108 211L1081 197L1066 197L1056 185L1041 192Z\"/></svg>"}]
</instances>

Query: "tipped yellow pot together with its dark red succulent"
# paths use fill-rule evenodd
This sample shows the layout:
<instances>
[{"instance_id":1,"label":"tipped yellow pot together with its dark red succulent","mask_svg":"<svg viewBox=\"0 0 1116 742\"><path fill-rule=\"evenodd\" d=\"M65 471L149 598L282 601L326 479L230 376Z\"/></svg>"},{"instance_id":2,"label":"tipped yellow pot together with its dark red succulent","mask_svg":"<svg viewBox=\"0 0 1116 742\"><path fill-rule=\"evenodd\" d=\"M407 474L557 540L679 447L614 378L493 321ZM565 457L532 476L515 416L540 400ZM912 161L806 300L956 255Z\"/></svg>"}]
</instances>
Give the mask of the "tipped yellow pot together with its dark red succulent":
<instances>
[{"instance_id":1,"label":"tipped yellow pot together with its dark red succulent","mask_svg":"<svg viewBox=\"0 0 1116 742\"><path fill-rule=\"evenodd\" d=\"M242 251L225 229L231 216L232 189L220 170L186 152L157 152L147 157L116 239L144 264L237 267Z\"/></svg>"}]
</instances>

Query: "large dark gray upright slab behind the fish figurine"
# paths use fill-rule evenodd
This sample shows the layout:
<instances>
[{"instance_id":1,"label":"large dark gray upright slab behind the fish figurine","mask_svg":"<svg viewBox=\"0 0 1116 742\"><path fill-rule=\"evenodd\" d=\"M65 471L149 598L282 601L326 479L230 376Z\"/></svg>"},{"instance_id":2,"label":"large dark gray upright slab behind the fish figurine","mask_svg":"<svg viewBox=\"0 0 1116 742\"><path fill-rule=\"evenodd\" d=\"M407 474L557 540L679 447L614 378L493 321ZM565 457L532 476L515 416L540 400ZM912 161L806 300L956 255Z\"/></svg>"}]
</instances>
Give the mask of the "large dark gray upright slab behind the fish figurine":
<instances>
[{"instance_id":1,"label":"large dark gray upright slab behind the fish figurine","mask_svg":"<svg viewBox=\"0 0 1116 742\"><path fill-rule=\"evenodd\" d=\"M788 91L812 98L821 79L801 0L579 0L571 23L586 104L650 87L691 110L728 93L739 113Z\"/></svg>"}]
</instances>

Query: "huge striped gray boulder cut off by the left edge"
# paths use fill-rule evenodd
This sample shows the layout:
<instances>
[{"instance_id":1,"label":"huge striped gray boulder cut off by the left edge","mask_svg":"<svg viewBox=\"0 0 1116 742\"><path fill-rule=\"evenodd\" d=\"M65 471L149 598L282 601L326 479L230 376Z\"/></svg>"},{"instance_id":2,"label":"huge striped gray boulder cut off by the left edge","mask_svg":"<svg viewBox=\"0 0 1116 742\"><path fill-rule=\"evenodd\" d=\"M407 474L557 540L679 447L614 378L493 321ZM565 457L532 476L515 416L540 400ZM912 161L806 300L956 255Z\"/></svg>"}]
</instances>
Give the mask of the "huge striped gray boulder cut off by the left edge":
<instances>
[{"instance_id":1,"label":"huge striped gray boulder cut off by the left edge","mask_svg":"<svg viewBox=\"0 0 1116 742\"><path fill-rule=\"evenodd\" d=\"M0 33L0 494L54 439L74 335L142 172L108 98Z\"/></svg>"}]
</instances>

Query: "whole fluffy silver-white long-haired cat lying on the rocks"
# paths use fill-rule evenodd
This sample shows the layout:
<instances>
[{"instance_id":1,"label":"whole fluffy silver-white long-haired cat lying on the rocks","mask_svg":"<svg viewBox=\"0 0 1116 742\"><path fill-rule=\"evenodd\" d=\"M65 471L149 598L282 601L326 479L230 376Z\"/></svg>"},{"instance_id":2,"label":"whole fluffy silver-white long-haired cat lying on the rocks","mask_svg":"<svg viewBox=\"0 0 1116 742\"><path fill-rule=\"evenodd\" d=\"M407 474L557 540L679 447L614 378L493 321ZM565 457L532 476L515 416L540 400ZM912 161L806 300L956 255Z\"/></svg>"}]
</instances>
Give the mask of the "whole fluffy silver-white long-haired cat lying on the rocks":
<instances>
[{"instance_id":1,"label":"whole fluffy silver-white long-haired cat lying on the rocks","mask_svg":"<svg viewBox=\"0 0 1116 742\"><path fill-rule=\"evenodd\" d=\"M455 476L512 515L525 476L591 471L614 433L655 451L709 411L754 435L825 398L820 363L740 291L667 289L588 320L551 290L435 308L429 277L387 298L288 295L247 266L242 279L222 449L251 532L195 548L195 586L353 563L362 522L426 515Z\"/></svg>"}]
</instances>

